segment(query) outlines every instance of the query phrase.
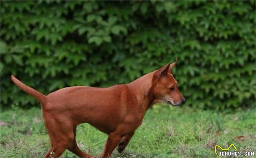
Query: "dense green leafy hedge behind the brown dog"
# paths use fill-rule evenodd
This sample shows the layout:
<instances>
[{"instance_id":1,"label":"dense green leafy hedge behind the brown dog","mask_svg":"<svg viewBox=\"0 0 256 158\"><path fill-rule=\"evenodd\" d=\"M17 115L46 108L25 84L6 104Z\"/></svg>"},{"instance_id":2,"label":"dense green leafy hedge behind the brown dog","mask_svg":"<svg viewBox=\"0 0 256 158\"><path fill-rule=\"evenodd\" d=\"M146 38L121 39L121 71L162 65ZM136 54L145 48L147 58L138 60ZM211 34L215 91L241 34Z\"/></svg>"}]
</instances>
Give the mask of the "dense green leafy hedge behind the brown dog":
<instances>
[{"instance_id":1,"label":"dense green leafy hedge behind the brown dog","mask_svg":"<svg viewBox=\"0 0 256 158\"><path fill-rule=\"evenodd\" d=\"M1 1L1 104L38 105L11 73L43 94L129 83L174 61L187 105L255 101L255 1Z\"/></svg>"}]
</instances>

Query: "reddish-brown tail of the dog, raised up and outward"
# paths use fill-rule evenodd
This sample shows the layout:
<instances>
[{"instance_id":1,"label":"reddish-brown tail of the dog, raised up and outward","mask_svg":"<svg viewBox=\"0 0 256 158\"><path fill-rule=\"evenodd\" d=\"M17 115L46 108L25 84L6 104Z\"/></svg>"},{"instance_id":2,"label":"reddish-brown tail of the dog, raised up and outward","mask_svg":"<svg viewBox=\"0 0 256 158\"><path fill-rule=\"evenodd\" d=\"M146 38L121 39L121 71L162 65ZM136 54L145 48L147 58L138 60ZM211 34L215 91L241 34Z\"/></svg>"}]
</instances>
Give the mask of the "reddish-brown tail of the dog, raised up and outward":
<instances>
[{"instance_id":1,"label":"reddish-brown tail of the dog, raised up and outward","mask_svg":"<svg viewBox=\"0 0 256 158\"><path fill-rule=\"evenodd\" d=\"M30 94L31 96L37 98L37 100L39 100L39 102L41 104L43 104L44 102L46 102L46 96L41 94L40 92L38 92L37 90L25 85L24 83L22 83L21 81L19 81L18 79L16 79L13 75L11 75L11 80L13 81L13 83L15 83L18 87L20 87L24 92Z\"/></svg>"}]
</instances>

